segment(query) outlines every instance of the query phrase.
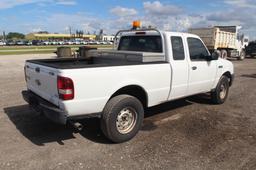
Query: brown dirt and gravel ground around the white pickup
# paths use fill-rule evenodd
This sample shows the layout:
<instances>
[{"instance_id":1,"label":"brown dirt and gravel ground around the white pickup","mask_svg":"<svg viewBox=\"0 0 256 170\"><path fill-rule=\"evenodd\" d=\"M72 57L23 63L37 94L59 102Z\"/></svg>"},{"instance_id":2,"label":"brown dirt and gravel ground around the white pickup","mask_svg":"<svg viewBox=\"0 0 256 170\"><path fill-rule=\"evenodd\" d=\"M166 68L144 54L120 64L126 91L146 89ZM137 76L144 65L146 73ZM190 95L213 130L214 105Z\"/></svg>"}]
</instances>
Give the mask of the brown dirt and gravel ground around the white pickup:
<instances>
[{"instance_id":1,"label":"brown dirt and gravel ground around the white pickup","mask_svg":"<svg viewBox=\"0 0 256 170\"><path fill-rule=\"evenodd\" d=\"M236 79L227 102L207 95L146 111L129 142L112 144L98 119L77 133L29 109L22 100L26 59L0 56L0 169L256 169L256 59L232 61Z\"/></svg>"}]
</instances>

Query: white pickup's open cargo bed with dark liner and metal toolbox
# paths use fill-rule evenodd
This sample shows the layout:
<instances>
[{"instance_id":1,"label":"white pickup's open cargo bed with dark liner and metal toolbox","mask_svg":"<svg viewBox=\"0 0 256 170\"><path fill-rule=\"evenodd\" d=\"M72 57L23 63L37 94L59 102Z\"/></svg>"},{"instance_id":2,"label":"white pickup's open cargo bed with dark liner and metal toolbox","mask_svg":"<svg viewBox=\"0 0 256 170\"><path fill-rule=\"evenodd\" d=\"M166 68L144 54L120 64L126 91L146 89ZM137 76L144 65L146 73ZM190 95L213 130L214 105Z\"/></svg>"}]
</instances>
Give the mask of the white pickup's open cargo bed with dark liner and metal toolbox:
<instances>
[{"instance_id":1,"label":"white pickup's open cargo bed with dark liner and metal toolbox","mask_svg":"<svg viewBox=\"0 0 256 170\"><path fill-rule=\"evenodd\" d=\"M162 54L94 51L90 58L59 58L28 60L27 62L39 64L56 69L92 68L122 65L158 64L166 63Z\"/></svg>"}]
</instances>

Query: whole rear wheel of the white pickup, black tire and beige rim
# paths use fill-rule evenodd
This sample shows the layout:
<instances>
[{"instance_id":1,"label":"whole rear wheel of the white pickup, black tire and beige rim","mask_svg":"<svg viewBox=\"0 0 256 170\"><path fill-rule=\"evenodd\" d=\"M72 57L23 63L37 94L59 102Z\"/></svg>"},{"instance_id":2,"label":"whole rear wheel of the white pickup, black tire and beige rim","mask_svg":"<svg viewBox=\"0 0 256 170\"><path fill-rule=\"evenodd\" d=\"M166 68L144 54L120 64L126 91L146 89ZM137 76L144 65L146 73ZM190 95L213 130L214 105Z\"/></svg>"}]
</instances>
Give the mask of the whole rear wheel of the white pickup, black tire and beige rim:
<instances>
[{"instance_id":1,"label":"whole rear wheel of the white pickup, black tire and beige rim","mask_svg":"<svg viewBox=\"0 0 256 170\"><path fill-rule=\"evenodd\" d=\"M144 109L137 98L119 95L106 104L101 118L101 129L112 142L125 142L138 133L143 118Z\"/></svg>"}]
</instances>

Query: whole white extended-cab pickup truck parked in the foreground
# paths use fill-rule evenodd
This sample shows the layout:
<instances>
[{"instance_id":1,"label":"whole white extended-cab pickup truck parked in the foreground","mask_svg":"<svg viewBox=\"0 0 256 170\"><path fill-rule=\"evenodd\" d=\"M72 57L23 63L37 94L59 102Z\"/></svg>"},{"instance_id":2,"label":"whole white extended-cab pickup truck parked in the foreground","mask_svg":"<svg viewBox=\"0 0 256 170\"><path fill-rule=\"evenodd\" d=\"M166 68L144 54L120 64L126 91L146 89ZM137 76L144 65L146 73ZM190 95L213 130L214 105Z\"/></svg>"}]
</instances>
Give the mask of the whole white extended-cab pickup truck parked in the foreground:
<instances>
[{"instance_id":1,"label":"whole white extended-cab pickup truck parked in the foreground","mask_svg":"<svg viewBox=\"0 0 256 170\"><path fill-rule=\"evenodd\" d=\"M23 98L58 123L100 117L103 133L117 143L137 134L144 108L206 92L225 102L233 64L210 55L198 36L155 29L118 35L115 50L89 58L26 61Z\"/></svg>"}]
</instances>

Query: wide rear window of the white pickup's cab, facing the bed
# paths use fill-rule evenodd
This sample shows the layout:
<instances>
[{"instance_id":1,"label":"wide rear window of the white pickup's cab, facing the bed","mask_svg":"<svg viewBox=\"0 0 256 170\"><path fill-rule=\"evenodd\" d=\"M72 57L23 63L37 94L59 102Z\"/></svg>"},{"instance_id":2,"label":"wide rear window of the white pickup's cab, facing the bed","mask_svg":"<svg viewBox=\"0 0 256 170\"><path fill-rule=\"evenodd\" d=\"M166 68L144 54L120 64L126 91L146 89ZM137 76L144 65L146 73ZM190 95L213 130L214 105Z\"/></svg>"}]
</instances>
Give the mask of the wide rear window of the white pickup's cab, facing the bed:
<instances>
[{"instance_id":1,"label":"wide rear window of the white pickup's cab, facing the bed","mask_svg":"<svg viewBox=\"0 0 256 170\"><path fill-rule=\"evenodd\" d=\"M123 36L118 50L161 53L162 41L160 36Z\"/></svg>"}]
</instances>

